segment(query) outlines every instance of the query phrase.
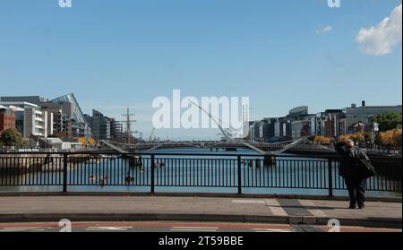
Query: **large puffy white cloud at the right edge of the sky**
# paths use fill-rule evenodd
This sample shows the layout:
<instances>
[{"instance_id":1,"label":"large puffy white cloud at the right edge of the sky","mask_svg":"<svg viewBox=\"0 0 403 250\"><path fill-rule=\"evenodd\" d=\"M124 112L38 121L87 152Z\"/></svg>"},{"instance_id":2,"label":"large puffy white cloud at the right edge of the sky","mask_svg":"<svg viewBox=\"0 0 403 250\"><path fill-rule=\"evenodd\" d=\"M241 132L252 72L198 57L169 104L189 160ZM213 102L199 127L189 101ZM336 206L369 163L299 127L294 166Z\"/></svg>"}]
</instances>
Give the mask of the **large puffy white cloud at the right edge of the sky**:
<instances>
[{"instance_id":1,"label":"large puffy white cloud at the right edge of the sky","mask_svg":"<svg viewBox=\"0 0 403 250\"><path fill-rule=\"evenodd\" d=\"M364 53L374 56L390 54L394 47L401 44L401 22L400 4L390 13L390 16L384 18L376 26L361 29L356 36L356 42Z\"/></svg>"}]
</instances>

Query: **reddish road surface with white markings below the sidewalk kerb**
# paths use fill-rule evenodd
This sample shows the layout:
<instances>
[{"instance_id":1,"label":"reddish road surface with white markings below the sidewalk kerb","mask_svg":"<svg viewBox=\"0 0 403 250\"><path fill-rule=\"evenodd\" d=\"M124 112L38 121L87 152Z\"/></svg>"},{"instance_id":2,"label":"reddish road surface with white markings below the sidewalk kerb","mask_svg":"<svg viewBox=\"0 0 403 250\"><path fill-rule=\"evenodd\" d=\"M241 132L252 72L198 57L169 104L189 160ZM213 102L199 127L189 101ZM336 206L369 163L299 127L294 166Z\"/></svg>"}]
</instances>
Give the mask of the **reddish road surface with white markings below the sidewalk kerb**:
<instances>
[{"instance_id":1,"label":"reddish road surface with white markings below the sidewalk kerb","mask_svg":"<svg viewBox=\"0 0 403 250\"><path fill-rule=\"evenodd\" d=\"M65 225L65 224L64 224ZM58 222L0 223L0 232L59 232ZM325 226L219 222L115 221L73 222L73 232L328 232ZM341 232L401 232L401 229L340 227Z\"/></svg>"}]
</instances>

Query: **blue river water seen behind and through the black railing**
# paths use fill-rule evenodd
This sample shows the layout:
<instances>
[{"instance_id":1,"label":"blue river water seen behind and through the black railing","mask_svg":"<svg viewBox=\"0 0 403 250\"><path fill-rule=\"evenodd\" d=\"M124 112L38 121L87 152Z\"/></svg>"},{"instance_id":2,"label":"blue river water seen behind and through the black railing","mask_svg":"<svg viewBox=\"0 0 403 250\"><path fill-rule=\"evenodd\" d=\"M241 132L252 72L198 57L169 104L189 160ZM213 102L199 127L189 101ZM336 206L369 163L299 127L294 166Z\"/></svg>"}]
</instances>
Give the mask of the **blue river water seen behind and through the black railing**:
<instances>
[{"instance_id":1,"label":"blue river water seen behind and through the black railing","mask_svg":"<svg viewBox=\"0 0 403 250\"><path fill-rule=\"evenodd\" d=\"M65 177L69 192L149 193L153 185L156 193L236 194L241 184L243 194L328 195L331 185L334 195L347 196L337 160L281 155L268 161L248 150L153 152L158 153L153 160L150 155L141 155L141 159L111 155L72 159L66 176L62 157L47 160L36 171L3 169L0 191L58 192ZM388 175L369 179L367 189L369 196L401 197L400 181Z\"/></svg>"}]
</instances>

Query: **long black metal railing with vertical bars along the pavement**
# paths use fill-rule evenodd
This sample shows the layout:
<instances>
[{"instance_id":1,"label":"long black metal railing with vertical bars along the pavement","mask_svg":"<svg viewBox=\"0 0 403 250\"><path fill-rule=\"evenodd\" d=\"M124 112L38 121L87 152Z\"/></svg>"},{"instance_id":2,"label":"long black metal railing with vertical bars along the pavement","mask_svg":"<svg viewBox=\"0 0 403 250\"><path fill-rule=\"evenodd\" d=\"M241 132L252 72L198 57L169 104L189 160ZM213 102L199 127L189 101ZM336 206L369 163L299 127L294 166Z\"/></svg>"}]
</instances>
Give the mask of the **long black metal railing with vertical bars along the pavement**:
<instances>
[{"instance_id":1,"label":"long black metal railing with vertical bars along the pavement","mask_svg":"<svg viewBox=\"0 0 403 250\"><path fill-rule=\"evenodd\" d=\"M369 191L401 192L401 158L373 159L378 175ZM0 154L0 186L146 186L322 189L333 195L346 189L334 156L142 153Z\"/></svg>"}]
</instances>

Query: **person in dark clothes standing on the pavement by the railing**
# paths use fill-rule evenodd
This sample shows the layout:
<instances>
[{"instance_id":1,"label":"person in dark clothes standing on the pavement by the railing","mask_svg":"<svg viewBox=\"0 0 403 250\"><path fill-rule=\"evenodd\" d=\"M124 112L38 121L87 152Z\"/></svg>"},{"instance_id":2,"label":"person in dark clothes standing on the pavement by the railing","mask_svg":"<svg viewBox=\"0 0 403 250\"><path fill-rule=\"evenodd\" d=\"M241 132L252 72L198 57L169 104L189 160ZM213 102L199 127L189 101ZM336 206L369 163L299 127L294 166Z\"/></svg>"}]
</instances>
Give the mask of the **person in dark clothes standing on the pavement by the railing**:
<instances>
[{"instance_id":1,"label":"person in dark clothes standing on the pavement by the railing","mask_svg":"<svg viewBox=\"0 0 403 250\"><path fill-rule=\"evenodd\" d=\"M368 156L354 146L352 140L336 143L336 151L341 156L339 174L344 177L350 197L350 209L365 207L365 184L368 177L375 175Z\"/></svg>"}]
</instances>

